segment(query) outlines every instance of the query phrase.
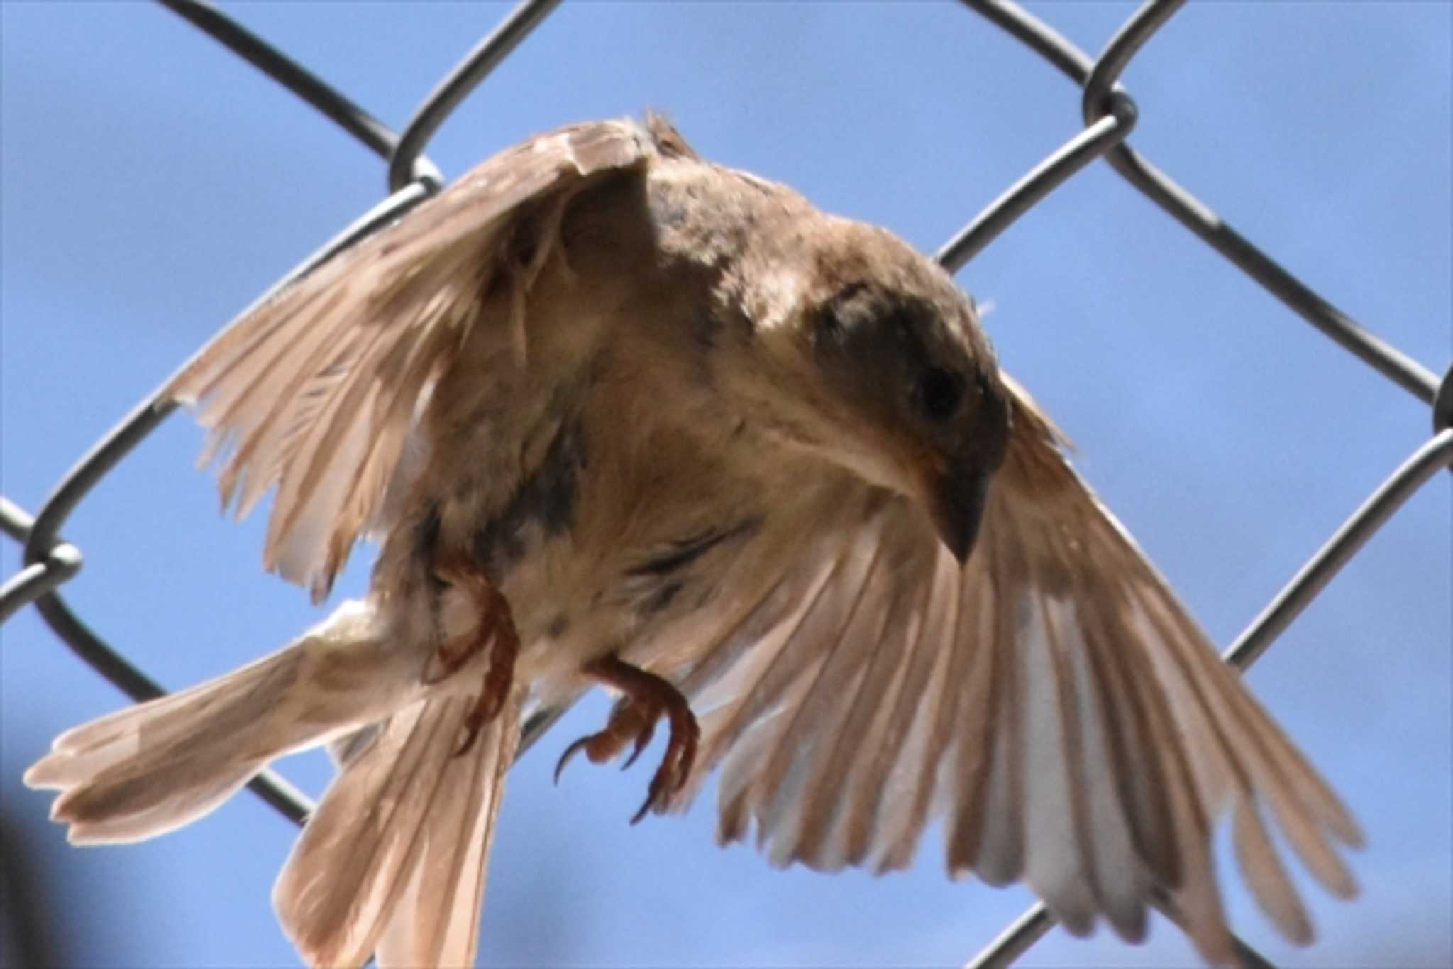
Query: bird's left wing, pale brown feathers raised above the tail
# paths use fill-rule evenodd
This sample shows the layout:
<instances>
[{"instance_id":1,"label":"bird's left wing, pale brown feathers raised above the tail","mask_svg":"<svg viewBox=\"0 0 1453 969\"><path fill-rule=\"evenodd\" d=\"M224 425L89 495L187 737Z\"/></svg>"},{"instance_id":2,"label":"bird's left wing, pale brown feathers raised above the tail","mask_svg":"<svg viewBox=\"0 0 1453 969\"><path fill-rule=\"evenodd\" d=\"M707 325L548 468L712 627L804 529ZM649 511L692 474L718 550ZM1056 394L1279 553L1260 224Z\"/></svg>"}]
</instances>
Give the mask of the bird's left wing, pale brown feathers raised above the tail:
<instances>
[{"instance_id":1,"label":"bird's left wing, pale brown feathers raised above the tail","mask_svg":"<svg viewBox=\"0 0 1453 969\"><path fill-rule=\"evenodd\" d=\"M660 122L597 122L490 158L237 320L167 386L201 405L224 507L235 500L241 517L278 484L269 569L327 594L469 328L513 325L523 350L523 299L514 320L481 320L482 293L523 295L565 202L644 164L667 135Z\"/></svg>"}]
</instances>

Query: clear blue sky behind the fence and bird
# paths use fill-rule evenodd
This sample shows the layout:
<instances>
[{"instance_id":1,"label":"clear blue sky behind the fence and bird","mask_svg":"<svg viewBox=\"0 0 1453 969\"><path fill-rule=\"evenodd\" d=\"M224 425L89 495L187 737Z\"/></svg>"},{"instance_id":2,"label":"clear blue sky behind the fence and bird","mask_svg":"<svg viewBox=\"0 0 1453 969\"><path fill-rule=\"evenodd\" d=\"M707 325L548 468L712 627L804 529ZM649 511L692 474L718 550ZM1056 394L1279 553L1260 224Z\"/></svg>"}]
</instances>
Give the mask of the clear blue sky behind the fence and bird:
<instances>
[{"instance_id":1,"label":"clear blue sky behind the fence and bird","mask_svg":"<svg viewBox=\"0 0 1453 969\"><path fill-rule=\"evenodd\" d=\"M504 7L237 4L244 23L401 126ZM1033 7L1087 51L1128 4ZM0 6L4 494L35 511L122 414L384 190L384 166L250 65L147 4ZM1132 142L1334 304L1441 373L1450 357L1450 6L1191 4L1133 61ZM1078 126L1077 92L949 4L567 4L455 113L449 176L568 121L674 116L708 157L933 250ZM1425 440L1428 408L1321 337L1097 163L959 282L1004 365L1218 644ZM169 687L321 613L259 567L263 516L216 514L202 434L167 421L77 510L64 591ZM1234 924L1286 965L1447 965L1450 501L1428 484L1251 673L1360 816L1354 904L1306 885L1318 944ZM9 575L16 548L4 542ZM369 555L340 583L357 594ZM73 850L20 771L122 703L33 610L3 631L0 814L68 962L291 965L269 905L294 828L248 795L163 840ZM481 963L949 965L1029 901L950 883L937 832L883 879L776 872L647 783L575 764L596 697L510 779ZM642 758L649 764L651 755ZM317 793L321 757L285 773ZM1300 876L1300 872L1298 873ZM0 962L4 953L0 952ZM1165 923L1128 949L1053 933L1030 965L1191 962Z\"/></svg>"}]
</instances>

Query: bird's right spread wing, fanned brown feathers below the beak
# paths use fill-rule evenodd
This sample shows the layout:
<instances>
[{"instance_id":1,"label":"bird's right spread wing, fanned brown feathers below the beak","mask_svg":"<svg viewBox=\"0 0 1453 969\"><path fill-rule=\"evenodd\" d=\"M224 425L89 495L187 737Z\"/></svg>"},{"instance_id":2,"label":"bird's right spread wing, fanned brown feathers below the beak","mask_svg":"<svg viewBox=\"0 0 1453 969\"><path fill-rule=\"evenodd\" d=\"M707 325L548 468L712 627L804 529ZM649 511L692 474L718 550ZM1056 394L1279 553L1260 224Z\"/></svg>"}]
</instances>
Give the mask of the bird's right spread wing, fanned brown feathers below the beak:
<instances>
[{"instance_id":1,"label":"bird's right spread wing, fanned brown feathers below the beak","mask_svg":"<svg viewBox=\"0 0 1453 969\"><path fill-rule=\"evenodd\" d=\"M1023 879L1078 934L1104 915L1136 940L1146 902L1170 901L1212 960L1231 959L1209 857L1223 811L1293 940L1311 927L1264 809L1324 885L1356 891L1334 848L1356 822L1027 397L965 568L911 503L841 506L680 678L702 718L693 787L724 769L724 840L754 827L777 864L888 870L942 819L950 873Z\"/></svg>"}]
</instances>

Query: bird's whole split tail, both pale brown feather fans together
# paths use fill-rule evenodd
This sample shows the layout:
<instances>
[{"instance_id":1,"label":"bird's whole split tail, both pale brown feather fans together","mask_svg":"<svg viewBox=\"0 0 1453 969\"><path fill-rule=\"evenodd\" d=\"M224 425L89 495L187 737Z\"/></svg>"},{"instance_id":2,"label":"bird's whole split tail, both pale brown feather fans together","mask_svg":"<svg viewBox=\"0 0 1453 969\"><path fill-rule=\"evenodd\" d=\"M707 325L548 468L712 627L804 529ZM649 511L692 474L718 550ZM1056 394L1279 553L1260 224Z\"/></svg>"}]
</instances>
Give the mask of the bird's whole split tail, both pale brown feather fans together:
<instances>
[{"instance_id":1,"label":"bird's whole split tail, both pale brown feather fans together","mask_svg":"<svg viewBox=\"0 0 1453 969\"><path fill-rule=\"evenodd\" d=\"M344 603L279 652L83 726L25 774L77 844L138 841L212 811L282 754L328 744L339 777L273 904L311 965L472 965L523 692L456 758L474 697L421 686L427 654ZM450 680L453 683L455 678Z\"/></svg>"}]
</instances>

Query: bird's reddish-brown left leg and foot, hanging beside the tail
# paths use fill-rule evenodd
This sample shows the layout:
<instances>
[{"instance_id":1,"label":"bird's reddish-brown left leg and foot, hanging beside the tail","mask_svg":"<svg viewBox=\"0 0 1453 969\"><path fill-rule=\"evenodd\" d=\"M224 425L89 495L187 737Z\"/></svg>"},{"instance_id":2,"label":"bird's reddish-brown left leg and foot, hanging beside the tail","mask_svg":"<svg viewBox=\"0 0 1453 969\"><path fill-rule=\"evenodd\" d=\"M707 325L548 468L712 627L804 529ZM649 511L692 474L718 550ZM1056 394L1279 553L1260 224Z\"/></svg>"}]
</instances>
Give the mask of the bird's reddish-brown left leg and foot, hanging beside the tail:
<instances>
[{"instance_id":1,"label":"bird's reddish-brown left leg and foot, hanging beside the tail","mask_svg":"<svg viewBox=\"0 0 1453 969\"><path fill-rule=\"evenodd\" d=\"M479 620L469 633L439 644L429 664L439 671L426 671L424 681L439 683L464 667L477 654L485 649L490 651L488 667L484 671L484 681L479 686L479 696L464 721L464 742L455 751L455 757L461 757L474 747L474 741L484 725L504 709L504 702L510 696L510 687L514 684L514 658L520 652L520 636L514 629L514 616L510 613L510 603L479 567L437 565L434 567L434 574L474 599L475 606L478 606Z\"/></svg>"}]
</instances>

